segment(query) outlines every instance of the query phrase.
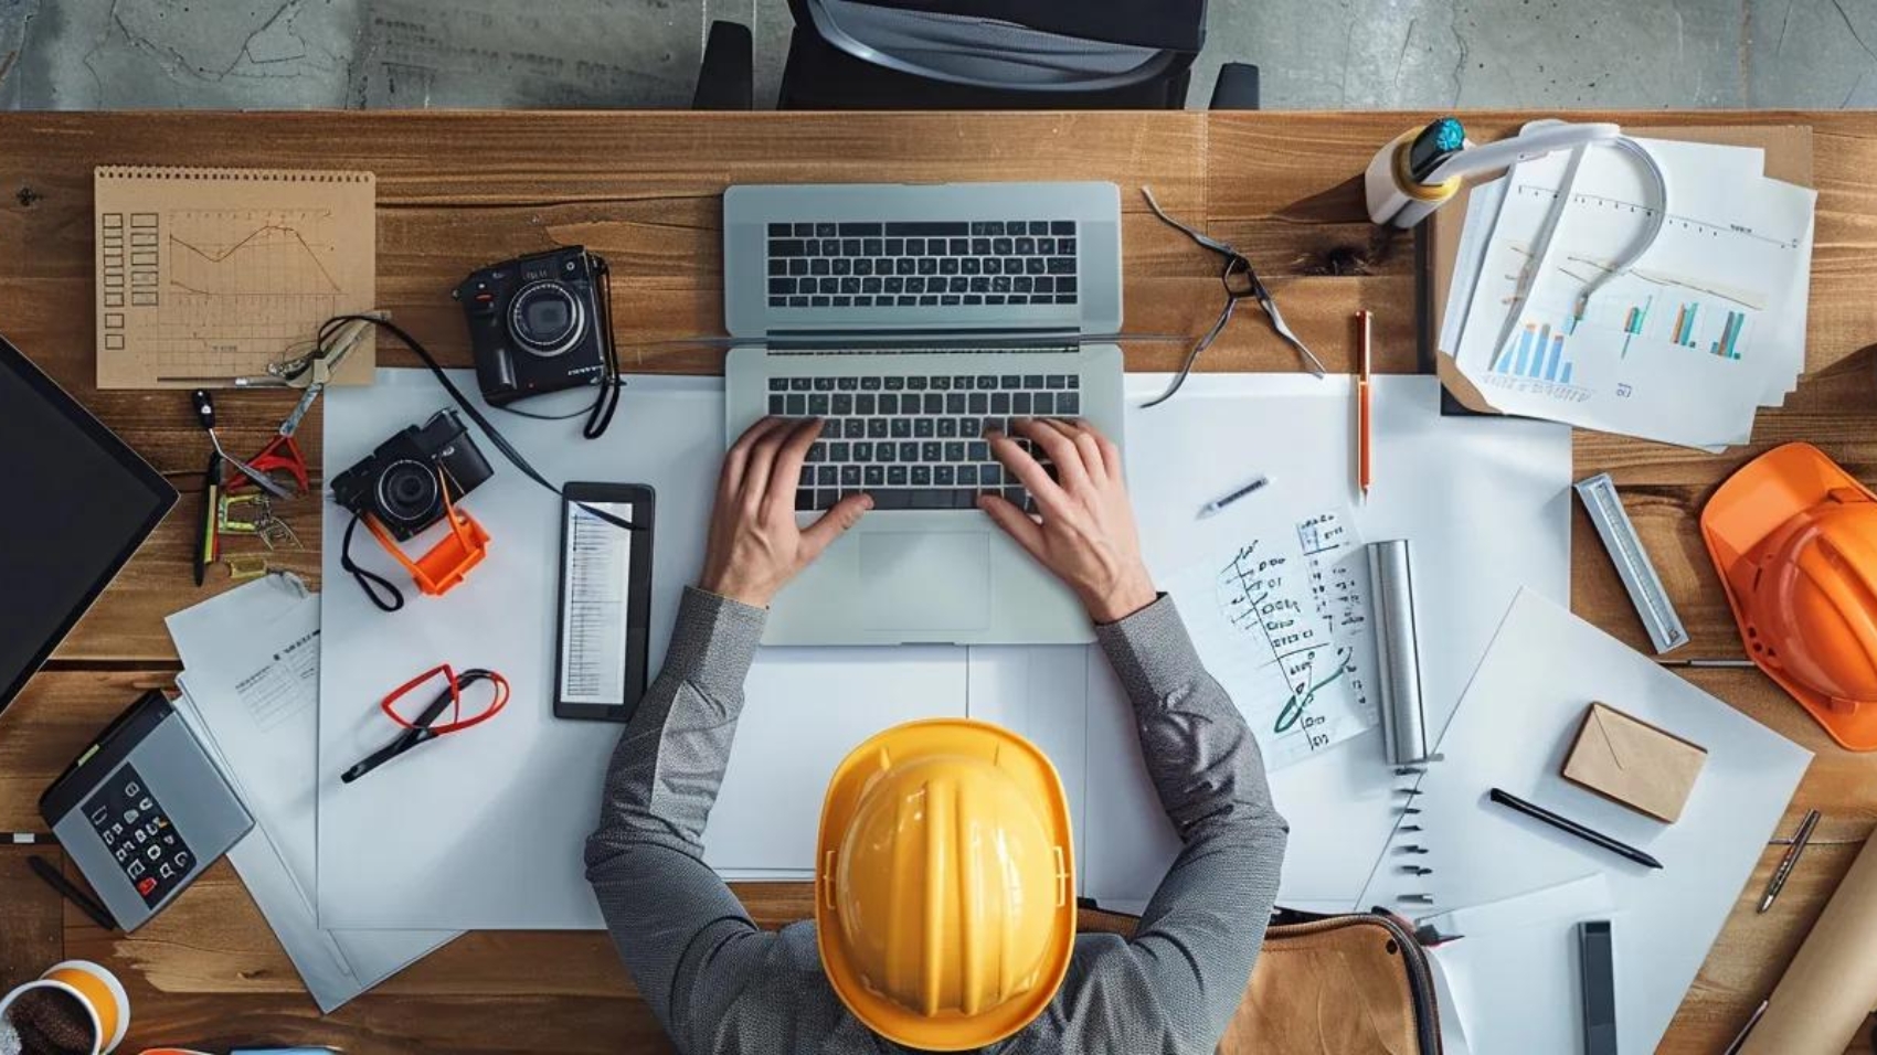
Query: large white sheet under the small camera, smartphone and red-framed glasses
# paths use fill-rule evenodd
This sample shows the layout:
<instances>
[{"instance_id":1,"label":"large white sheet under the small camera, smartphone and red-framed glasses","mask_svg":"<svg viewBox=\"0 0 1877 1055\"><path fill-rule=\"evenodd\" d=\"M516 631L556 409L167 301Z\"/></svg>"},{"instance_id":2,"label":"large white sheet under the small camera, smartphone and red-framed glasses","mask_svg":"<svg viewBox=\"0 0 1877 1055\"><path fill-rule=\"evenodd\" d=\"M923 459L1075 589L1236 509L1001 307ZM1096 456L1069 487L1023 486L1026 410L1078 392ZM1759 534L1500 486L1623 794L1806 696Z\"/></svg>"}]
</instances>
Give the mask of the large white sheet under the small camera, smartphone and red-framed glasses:
<instances>
[{"instance_id":1,"label":"large white sheet under the small camera, smartphone and red-framed glasses","mask_svg":"<svg viewBox=\"0 0 1877 1055\"><path fill-rule=\"evenodd\" d=\"M475 390L469 372L456 379ZM449 396L420 370L379 370L372 387L328 390L327 479L445 405ZM649 655L657 672L679 591L704 559L710 482L723 460L723 381L631 377L612 430L597 441L580 439L578 422L490 413L552 481L657 492ZM601 925L582 849L619 726L552 713L559 499L482 449L496 477L462 505L494 541L488 559L445 597L419 597L405 580L402 612L374 608L338 565L349 518L327 507L319 922L328 927ZM405 578L359 535L355 559ZM435 529L409 548L434 541ZM338 775L394 732L379 698L443 661L499 670L514 685L509 708L342 785ZM965 708L961 648L762 650L704 833L706 860L732 877L811 875L833 764L877 728Z\"/></svg>"}]
</instances>

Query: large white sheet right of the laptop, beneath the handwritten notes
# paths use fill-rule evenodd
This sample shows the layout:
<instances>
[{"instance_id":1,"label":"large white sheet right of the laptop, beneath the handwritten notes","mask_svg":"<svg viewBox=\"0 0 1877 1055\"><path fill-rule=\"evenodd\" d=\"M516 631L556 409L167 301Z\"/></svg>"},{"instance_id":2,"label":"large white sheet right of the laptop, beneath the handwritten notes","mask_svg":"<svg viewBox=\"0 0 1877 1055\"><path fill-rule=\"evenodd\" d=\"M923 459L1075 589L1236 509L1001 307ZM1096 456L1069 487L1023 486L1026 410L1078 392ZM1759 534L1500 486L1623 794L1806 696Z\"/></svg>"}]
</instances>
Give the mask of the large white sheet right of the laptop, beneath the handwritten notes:
<instances>
[{"instance_id":1,"label":"large white sheet right of the laptop, beneath the handwritten notes","mask_svg":"<svg viewBox=\"0 0 1877 1055\"><path fill-rule=\"evenodd\" d=\"M1440 417L1434 377L1383 375L1374 385L1376 482L1355 516L1365 539L1413 539L1423 691L1438 730L1518 589L1569 597L1571 439L1556 424ZM1233 544L1241 518L1274 496L1252 494L1207 520L1194 514L1256 475L1271 477L1267 490L1282 486L1286 505L1353 501L1348 377L1199 374L1173 402L1137 407L1164 387L1166 375L1128 375L1136 404L1126 420L1128 486L1149 565L1162 580L1194 554ZM1027 651L972 650L972 683ZM1081 678L1034 683L1030 706L1085 708L1079 880L1104 905L1139 909L1179 845L1107 661L1094 648L1077 651ZM1276 805L1291 822L1286 905L1357 907L1391 828L1389 777L1378 732L1273 775Z\"/></svg>"}]
</instances>

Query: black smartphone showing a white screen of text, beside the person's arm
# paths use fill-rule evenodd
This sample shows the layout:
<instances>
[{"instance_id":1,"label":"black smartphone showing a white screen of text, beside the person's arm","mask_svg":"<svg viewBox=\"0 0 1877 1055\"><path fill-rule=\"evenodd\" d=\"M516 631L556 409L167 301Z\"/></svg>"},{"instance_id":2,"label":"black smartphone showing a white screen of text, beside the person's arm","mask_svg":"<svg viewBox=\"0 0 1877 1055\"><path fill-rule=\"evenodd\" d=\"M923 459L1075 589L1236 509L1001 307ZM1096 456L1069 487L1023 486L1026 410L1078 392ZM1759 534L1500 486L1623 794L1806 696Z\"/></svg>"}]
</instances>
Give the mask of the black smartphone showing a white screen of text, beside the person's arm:
<instances>
[{"instance_id":1,"label":"black smartphone showing a white screen of text, beside the person's arm","mask_svg":"<svg viewBox=\"0 0 1877 1055\"><path fill-rule=\"evenodd\" d=\"M642 484L561 488L554 717L627 721L638 710L646 693L655 514L655 496Z\"/></svg>"}]
</instances>

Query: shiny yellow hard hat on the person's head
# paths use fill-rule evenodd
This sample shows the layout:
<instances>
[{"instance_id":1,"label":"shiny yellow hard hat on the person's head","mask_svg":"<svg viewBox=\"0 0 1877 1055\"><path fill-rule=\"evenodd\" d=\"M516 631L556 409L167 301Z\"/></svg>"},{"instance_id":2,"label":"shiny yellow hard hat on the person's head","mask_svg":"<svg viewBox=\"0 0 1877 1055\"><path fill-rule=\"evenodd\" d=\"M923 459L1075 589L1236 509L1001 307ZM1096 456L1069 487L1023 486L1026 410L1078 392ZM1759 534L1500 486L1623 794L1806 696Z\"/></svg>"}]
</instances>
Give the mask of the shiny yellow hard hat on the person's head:
<instances>
[{"instance_id":1,"label":"shiny yellow hard hat on the person's head","mask_svg":"<svg viewBox=\"0 0 1877 1055\"><path fill-rule=\"evenodd\" d=\"M828 781L822 969L854 1017L925 1051L995 1044L1055 999L1076 944L1068 796L1000 726L914 721Z\"/></svg>"}]
</instances>

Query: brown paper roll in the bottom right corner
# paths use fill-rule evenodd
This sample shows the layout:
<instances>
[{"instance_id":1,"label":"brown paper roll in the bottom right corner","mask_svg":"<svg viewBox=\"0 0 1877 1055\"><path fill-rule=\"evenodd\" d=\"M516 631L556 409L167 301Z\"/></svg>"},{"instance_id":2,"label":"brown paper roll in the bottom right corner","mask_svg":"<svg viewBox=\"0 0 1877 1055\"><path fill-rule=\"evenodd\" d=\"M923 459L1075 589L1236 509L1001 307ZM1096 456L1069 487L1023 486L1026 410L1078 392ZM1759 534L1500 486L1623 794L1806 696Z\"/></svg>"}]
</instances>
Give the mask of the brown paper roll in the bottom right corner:
<instances>
[{"instance_id":1,"label":"brown paper roll in the bottom right corner","mask_svg":"<svg viewBox=\"0 0 1877 1055\"><path fill-rule=\"evenodd\" d=\"M1877 1006L1877 837L1824 905L1740 1055L1841 1055Z\"/></svg>"}]
</instances>

